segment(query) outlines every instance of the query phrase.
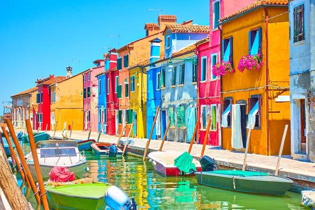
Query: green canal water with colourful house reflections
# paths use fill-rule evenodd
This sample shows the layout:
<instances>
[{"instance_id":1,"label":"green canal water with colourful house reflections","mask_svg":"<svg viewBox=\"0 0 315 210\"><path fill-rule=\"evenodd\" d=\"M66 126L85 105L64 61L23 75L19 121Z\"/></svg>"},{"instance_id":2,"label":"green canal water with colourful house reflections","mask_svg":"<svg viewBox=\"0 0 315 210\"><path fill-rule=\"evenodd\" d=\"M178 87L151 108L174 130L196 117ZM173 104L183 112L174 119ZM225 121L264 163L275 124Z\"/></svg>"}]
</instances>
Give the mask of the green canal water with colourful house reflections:
<instances>
[{"instance_id":1,"label":"green canal water with colourful house reflections","mask_svg":"<svg viewBox=\"0 0 315 210\"><path fill-rule=\"evenodd\" d=\"M29 144L23 143L22 150L27 154ZM309 209L301 204L299 193L287 191L282 196L269 196L222 190L199 185L194 176L157 174L149 161L130 153L117 158L96 157L92 151L85 155L90 170L84 177L120 187L135 198L137 209ZM30 189L23 188L23 191L34 209L43 209L37 205Z\"/></svg>"}]
</instances>

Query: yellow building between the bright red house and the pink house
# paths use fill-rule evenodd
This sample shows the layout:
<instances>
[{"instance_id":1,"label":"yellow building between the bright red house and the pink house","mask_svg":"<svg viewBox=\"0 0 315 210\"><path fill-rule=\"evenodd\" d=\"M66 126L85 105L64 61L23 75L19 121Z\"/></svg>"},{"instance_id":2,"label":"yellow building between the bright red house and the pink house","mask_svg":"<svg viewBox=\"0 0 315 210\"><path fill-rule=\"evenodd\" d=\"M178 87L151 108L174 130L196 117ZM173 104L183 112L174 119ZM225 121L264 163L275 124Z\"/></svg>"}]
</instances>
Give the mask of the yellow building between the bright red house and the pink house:
<instances>
[{"instance_id":1,"label":"yellow building between the bright red house and the pink house","mask_svg":"<svg viewBox=\"0 0 315 210\"><path fill-rule=\"evenodd\" d=\"M83 129L83 76L69 76L50 88L50 129ZM70 128L71 129L71 128Z\"/></svg>"}]
</instances>

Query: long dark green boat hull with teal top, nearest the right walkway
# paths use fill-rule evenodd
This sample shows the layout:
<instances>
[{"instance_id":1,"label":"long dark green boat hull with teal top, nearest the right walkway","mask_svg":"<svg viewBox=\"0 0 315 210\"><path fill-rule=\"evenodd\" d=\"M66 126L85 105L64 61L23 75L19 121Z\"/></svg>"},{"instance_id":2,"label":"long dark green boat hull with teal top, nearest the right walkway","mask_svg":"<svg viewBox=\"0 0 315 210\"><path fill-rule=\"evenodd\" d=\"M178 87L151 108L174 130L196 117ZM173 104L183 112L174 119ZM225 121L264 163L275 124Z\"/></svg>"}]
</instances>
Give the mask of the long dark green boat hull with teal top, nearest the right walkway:
<instances>
[{"instance_id":1,"label":"long dark green boat hull with teal top, nearest the right walkway","mask_svg":"<svg viewBox=\"0 0 315 210\"><path fill-rule=\"evenodd\" d=\"M196 172L198 184L255 194L283 195L293 183L292 180L281 176L233 176L215 172Z\"/></svg>"}]
</instances>

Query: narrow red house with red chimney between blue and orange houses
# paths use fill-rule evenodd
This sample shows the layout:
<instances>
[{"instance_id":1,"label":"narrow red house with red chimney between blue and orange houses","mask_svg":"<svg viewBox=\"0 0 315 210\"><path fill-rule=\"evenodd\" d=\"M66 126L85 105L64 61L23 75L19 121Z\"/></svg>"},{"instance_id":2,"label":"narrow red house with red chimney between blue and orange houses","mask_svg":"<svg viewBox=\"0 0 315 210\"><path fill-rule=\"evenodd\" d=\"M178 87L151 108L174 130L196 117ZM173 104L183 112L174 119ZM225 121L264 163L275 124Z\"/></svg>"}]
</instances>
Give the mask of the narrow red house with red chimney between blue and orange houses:
<instances>
[{"instance_id":1,"label":"narrow red house with red chimney between blue and orange houses","mask_svg":"<svg viewBox=\"0 0 315 210\"><path fill-rule=\"evenodd\" d=\"M107 58L109 59L109 68L105 69L105 74L107 78L107 81L106 81L106 108L107 108L106 130L107 130L107 134L115 135L119 133L118 97L117 97L119 72L117 70L117 52L115 48L108 51Z\"/></svg>"}]
</instances>

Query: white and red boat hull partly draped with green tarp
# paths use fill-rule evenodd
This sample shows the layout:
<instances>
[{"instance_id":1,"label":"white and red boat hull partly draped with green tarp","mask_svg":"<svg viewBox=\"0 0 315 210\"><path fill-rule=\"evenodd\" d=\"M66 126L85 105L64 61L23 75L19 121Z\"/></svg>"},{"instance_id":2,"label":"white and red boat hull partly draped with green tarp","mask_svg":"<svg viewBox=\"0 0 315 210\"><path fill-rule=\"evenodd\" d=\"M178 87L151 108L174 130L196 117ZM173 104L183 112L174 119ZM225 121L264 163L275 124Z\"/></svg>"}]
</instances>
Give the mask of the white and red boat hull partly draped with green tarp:
<instances>
[{"instance_id":1,"label":"white and red boat hull partly draped with green tarp","mask_svg":"<svg viewBox=\"0 0 315 210\"><path fill-rule=\"evenodd\" d=\"M148 154L149 160L152 162L155 172L164 176L179 176L185 175L174 166L174 160L182 155L178 152L151 152ZM197 171L201 171L201 165L199 161L193 159L193 163L196 166ZM194 175L192 173L191 175Z\"/></svg>"}]
</instances>

